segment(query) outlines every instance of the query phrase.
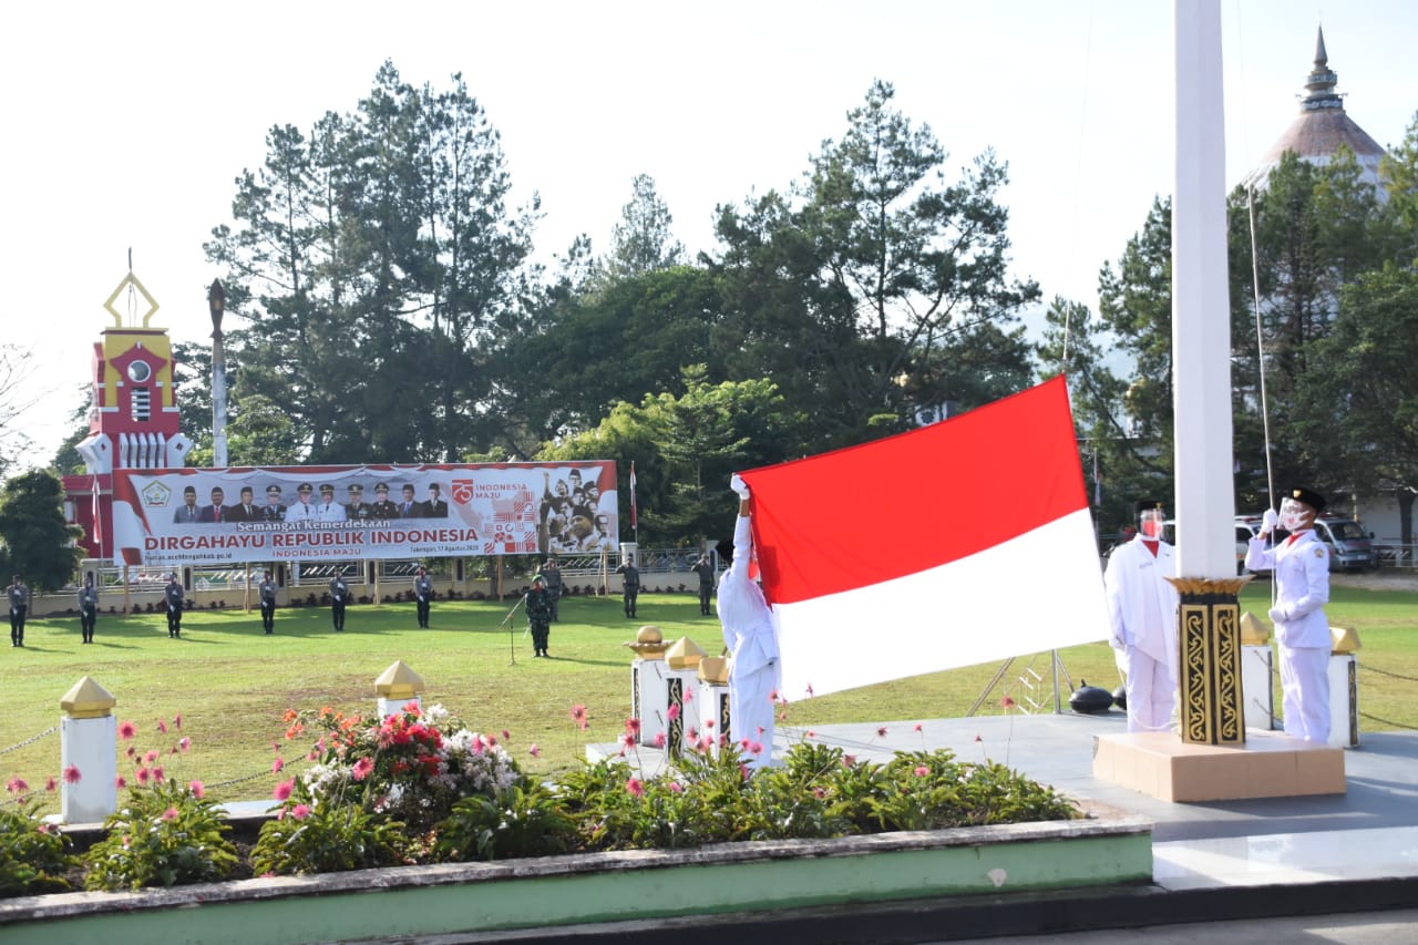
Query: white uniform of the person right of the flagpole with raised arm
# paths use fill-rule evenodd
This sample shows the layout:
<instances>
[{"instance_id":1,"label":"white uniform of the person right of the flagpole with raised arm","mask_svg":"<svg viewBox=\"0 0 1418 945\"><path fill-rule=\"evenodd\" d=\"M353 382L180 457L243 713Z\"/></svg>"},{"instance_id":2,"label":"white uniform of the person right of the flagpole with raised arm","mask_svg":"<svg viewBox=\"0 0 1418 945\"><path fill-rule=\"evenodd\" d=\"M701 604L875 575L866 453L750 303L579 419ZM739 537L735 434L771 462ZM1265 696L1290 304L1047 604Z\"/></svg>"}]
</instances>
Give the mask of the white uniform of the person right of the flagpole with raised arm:
<instances>
[{"instance_id":1,"label":"white uniform of the person right of the flagpole with raised arm","mask_svg":"<svg viewBox=\"0 0 1418 945\"><path fill-rule=\"evenodd\" d=\"M1275 641L1280 646L1280 694L1285 734L1327 742L1330 728L1329 657L1334 648L1324 604L1329 603L1329 546L1313 529L1296 532L1275 548L1252 538L1245 553L1251 570L1275 570Z\"/></svg>"}]
</instances>

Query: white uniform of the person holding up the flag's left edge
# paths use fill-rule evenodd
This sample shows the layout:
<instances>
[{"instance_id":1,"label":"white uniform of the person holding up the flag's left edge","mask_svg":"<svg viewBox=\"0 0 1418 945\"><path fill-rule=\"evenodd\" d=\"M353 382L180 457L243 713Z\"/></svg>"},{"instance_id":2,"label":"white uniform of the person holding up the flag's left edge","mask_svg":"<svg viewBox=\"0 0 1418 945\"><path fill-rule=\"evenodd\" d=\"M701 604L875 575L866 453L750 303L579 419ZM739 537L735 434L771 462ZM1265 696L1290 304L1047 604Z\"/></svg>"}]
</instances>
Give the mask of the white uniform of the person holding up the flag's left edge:
<instances>
[{"instance_id":1,"label":"white uniform of the person holding up the flag's left edge","mask_svg":"<svg viewBox=\"0 0 1418 945\"><path fill-rule=\"evenodd\" d=\"M761 745L761 752L744 751L750 768L773 761L773 701L780 682L778 631L773 612L763 599L763 589L749 578L753 552L752 519L740 515L733 526L733 563L719 579L719 620L723 643L732 656L729 664L729 735L735 744L744 739Z\"/></svg>"}]
</instances>

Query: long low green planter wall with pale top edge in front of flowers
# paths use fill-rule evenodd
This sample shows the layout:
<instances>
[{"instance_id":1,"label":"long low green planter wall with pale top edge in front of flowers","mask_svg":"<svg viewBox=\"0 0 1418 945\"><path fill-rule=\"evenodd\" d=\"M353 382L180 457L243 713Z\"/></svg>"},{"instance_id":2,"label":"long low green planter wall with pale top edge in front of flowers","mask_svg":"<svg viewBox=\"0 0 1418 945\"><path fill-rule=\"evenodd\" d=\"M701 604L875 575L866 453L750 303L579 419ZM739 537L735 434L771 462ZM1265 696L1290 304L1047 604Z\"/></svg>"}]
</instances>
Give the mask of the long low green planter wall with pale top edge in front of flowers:
<instances>
[{"instance_id":1,"label":"long low green planter wall with pale top edge in front of flowers","mask_svg":"<svg viewBox=\"0 0 1418 945\"><path fill-rule=\"evenodd\" d=\"M1151 881L1151 822L593 853L0 901L6 942L373 939Z\"/></svg>"}]
</instances>

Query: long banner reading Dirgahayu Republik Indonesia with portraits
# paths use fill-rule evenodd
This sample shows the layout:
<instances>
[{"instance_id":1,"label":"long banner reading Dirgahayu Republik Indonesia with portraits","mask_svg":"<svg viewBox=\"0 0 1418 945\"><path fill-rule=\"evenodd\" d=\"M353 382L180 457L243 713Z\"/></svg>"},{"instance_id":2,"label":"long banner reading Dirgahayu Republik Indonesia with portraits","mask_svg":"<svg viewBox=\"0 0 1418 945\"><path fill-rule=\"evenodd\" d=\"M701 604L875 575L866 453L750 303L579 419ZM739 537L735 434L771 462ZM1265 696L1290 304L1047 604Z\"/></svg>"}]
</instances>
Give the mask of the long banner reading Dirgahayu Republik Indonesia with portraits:
<instances>
[{"instance_id":1,"label":"long banner reading Dirgahayu Republik Indonesia with portraits","mask_svg":"<svg viewBox=\"0 0 1418 945\"><path fill-rule=\"evenodd\" d=\"M620 543L615 463L115 470L128 565L576 555Z\"/></svg>"}]
</instances>

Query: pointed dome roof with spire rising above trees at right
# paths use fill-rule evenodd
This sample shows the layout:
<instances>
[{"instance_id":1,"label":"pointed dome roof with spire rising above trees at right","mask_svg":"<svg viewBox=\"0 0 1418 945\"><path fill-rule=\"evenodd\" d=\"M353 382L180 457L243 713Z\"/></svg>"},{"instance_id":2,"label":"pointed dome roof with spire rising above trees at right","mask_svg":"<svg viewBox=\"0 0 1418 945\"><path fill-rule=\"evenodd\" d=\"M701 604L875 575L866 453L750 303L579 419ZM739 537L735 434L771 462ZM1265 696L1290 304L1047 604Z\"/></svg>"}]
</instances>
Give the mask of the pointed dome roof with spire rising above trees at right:
<instances>
[{"instance_id":1,"label":"pointed dome roof with spire rising above trees at right","mask_svg":"<svg viewBox=\"0 0 1418 945\"><path fill-rule=\"evenodd\" d=\"M1380 200L1387 196L1378 170L1385 152L1344 112L1344 99L1334 91L1337 84L1339 75L1329 67L1324 28L1320 27L1314 43L1314 68L1306 78L1305 95L1300 96L1300 114L1271 146L1255 170L1241 182L1242 187L1265 190L1271 172L1279 166L1280 158L1288 150L1313 165L1327 165L1340 146L1347 145L1358 160L1361 180L1377 190Z\"/></svg>"}]
</instances>

